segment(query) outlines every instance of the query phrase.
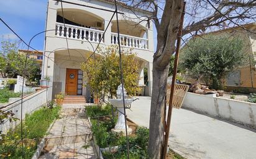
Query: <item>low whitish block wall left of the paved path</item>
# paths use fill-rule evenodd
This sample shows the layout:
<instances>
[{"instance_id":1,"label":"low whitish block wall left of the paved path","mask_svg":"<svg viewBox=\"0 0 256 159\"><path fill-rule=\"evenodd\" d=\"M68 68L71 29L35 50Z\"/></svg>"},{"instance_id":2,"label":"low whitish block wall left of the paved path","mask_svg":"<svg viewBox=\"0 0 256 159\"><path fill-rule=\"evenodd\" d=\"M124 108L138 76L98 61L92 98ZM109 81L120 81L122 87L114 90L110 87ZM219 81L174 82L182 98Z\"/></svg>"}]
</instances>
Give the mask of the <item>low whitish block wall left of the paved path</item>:
<instances>
[{"instance_id":1,"label":"low whitish block wall left of the paved path","mask_svg":"<svg viewBox=\"0 0 256 159\"><path fill-rule=\"evenodd\" d=\"M25 114L30 114L33 111L39 109L42 105L47 103L47 89L39 90L23 98L22 104L22 119L25 118ZM6 133L11 128L14 128L19 122L21 122L21 98L17 98L12 103L7 103L7 107L3 108L4 111L12 111L15 115L14 118L18 118L17 121L9 122L6 119L4 124L0 125L0 131ZM4 105L2 105L4 106ZM1 106L1 107L2 107Z\"/></svg>"}]
</instances>

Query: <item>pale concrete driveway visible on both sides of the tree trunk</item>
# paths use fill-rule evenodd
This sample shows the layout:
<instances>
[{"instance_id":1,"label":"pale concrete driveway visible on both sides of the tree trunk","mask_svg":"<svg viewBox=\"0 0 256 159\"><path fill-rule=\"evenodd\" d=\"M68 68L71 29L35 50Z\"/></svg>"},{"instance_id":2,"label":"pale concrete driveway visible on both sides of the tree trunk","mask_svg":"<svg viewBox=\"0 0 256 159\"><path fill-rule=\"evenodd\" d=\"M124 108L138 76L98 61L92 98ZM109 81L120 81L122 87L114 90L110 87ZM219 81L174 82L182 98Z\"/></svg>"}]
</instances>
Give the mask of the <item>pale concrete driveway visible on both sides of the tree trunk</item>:
<instances>
[{"instance_id":1,"label":"pale concrete driveway visible on both sides of the tree trunk","mask_svg":"<svg viewBox=\"0 0 256 159\"><path fill-rule=\"evenodd\" d=\"M139 97L127 110L128 118L149 127L150 97ZM255 159L255 130L189 110L173 109L170 148L185 158Z\"/></svg>"}]
</instances>

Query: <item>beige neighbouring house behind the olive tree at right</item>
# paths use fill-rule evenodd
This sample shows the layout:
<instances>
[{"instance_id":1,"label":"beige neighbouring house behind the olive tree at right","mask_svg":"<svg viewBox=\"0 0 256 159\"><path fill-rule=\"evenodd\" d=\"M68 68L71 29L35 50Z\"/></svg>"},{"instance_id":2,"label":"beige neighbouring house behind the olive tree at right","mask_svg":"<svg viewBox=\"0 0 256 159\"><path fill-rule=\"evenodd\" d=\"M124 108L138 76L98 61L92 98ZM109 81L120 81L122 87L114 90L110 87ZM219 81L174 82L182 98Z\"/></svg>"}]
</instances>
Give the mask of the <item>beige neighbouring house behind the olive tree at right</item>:
<instances>
[{"instance_id":1,"label":"beige neighbouring house behind the olive tree at right","mask_svg":"<svg viewBox=\"0 0 256 159\"><path fill-rule=\"evenodd\" d=\"M256 71L255 71L255 61L256 61L256 23L250 23L242 25L241 27L226 28L223 30L217 30L215 32L205 33L198 36L197 38L204 37L205 35L219 36L226 34L227 36L239 36L244 40L244 53L248 57L247 62L244 66L240 66L239 69L230 72L226 79L224 79L222 85L227 86L237 86L237 87L254 87L256 88ZM247 30L250 30L247 31ZM251 57L249 62L249 55ZM194 83L196 80L190 79L190 77L185 77L186 82Z\"/></svg>"}]
</instances>

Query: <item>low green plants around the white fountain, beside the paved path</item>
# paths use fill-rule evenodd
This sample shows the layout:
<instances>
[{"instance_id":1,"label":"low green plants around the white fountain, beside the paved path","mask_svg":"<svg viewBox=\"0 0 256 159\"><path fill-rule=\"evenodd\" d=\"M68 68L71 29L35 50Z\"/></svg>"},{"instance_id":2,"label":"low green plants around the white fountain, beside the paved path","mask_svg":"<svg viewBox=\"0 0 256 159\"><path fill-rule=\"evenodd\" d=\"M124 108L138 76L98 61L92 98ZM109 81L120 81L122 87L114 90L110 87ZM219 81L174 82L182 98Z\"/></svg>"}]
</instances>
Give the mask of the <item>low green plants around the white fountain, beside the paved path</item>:
<instances>
[{"instance_id":1,"label":"low green plants around the white fountain, beside the paved path","mask_svg":"<svg viewBox=\"0 0 256 159\"><path fill-rule=\"evenodd\" d=\"M126 148L126 137L111 132L114 128L117 118L114 119L102 119L98 120L98 116L111 115L111 106L107 105L104 108L99 106L89 106L86 108L86 113L91 117L91 130L96 137L96 143L99 147L112 147L118 145L118 151L116 153L103 153L104 158L127 158L127 148ZM129 136L129 146L130 146L130 158L139 159L147 158L147 145L149 143L149 129L146 127L138 127L135 135Z\"/></svg>"}]
</instances>

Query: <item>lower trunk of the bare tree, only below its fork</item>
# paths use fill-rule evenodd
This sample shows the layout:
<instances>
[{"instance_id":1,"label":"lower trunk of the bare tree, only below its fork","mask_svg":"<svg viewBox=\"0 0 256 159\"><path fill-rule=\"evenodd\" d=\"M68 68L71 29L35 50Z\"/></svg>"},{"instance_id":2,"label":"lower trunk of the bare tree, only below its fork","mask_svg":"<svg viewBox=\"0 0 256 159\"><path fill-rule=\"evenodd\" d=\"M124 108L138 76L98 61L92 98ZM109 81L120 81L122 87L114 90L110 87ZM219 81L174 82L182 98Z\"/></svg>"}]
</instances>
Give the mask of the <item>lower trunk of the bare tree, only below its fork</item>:
<instances>
[{"instance_id":1,"label":"lower trunk of the bare tree, only below its fork","mask_svg":"<svg viewBox=\"0 0 256 159\"><path fill-rule=\"evenodd\" d=\"M164 126L163 111L165 108L165 95L169 65L159 70L153 63L153 88L150 108L150 134L149 134L149 156L150 158L161 158L163 150Z\"/></svg>"}]
</instances>

